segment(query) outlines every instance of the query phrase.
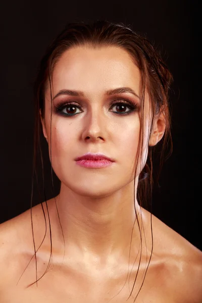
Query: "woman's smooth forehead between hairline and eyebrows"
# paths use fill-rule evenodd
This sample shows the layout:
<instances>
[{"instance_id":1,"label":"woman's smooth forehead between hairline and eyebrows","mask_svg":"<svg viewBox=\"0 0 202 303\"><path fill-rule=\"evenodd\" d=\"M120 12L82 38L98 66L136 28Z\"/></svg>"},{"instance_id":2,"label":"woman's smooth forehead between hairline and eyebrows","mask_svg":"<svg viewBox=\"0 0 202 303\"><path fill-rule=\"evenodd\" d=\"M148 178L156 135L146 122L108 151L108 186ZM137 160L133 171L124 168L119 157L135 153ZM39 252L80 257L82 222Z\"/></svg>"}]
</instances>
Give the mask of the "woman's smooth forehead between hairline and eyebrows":
<instances>
[{"instance_id":1,"label":"woman's smooth forehead between hairline and eyebrows","mask_svg":"<svg viewBox=\"0 0 202 303\"><path fill-rule=\"evenodd\" d=\"M84 93L103 93L119 86L130 86L139 93L140 73L130 55L121 47L77 46L57 61L53 90L79 89Z\"/></svg>"}]
</instances>

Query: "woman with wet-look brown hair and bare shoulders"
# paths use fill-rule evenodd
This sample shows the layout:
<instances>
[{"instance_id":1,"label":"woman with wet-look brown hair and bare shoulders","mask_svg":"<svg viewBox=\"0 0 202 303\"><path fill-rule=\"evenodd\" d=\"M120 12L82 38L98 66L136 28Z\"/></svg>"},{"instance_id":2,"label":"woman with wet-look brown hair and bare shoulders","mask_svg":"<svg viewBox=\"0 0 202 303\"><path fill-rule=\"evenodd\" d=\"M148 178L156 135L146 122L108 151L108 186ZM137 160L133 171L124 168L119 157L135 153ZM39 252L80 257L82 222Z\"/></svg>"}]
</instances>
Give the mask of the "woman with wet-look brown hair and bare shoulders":
<instances>
[{"instance_id":1,"label":"woman with wet-look brown hair and bare shoulders","mask_svg":"<svg viewBox=\"0 0 202 303\"><path fill-rule=\"evenodd\" d=\"M142 207L171 80L123 24L68 24L49 45L35 155L42 127L61 189L1 225L1 302L202 301L201 251Z\"/></svg>"}]
</instances>

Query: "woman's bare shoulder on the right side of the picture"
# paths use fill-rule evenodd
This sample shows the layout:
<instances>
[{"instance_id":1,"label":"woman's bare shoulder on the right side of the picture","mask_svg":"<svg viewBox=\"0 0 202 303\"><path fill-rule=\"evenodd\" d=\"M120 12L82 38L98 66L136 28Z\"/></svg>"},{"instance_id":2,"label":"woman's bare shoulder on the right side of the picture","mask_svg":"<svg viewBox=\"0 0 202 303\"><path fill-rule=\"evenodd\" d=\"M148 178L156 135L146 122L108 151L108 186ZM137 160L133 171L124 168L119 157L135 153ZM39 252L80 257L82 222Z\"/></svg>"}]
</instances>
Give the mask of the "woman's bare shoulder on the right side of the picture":
<instances>
[{"instance_id":1,"label":"woman's bare shoulder on the right side of the picture","mask_svg":"<svg viewBox=\"0 0 202 303\"><path fill-rule=\"evenodd\" d=\"M168 285L179 301L202 302L202 252L153 216L154 247L169 273Z\"/></svg>"}]
</instances>

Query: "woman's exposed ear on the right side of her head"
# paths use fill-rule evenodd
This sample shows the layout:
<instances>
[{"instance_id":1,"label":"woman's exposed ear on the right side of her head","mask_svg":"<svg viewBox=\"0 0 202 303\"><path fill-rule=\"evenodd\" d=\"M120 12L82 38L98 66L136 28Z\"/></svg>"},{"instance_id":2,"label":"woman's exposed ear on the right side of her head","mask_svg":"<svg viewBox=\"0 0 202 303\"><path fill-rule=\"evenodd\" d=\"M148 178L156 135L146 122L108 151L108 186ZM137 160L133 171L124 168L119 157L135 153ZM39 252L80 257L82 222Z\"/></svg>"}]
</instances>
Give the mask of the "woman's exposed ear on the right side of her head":
<instances>
[{"instance_id":1,"label":"woman's exposed ear on the right side of her head","mask_svg":"<svg viewBox=\"0 0 202 303\"><path fill-rule=\"evenodd\" d=\"M165 129L166 120L164 112L161 111L160 114L156 117L155 123L153 125L153 130L149 138L149 146L156 145L162 139Z\"/></svg>"}]
</instances>

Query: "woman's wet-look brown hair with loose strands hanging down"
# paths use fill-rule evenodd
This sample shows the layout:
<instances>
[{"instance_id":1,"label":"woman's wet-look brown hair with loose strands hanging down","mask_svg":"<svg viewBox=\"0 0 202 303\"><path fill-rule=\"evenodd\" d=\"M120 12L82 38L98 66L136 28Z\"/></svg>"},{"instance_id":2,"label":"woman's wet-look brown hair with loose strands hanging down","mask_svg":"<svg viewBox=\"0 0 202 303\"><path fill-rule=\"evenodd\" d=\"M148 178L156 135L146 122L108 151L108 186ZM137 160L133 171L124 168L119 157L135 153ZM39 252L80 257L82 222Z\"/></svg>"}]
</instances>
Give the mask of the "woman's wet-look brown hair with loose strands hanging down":
<instances>
[{"instance_id":1,"label":"woman's wet-look brown hair with loose strands hanging down","mask_svg":"<svg viewBox=\"0 0 202 303\"><path fill-rule=\"evenodd\" d=\"M126 26L123 23L112 23L108 21L99 21L99 20L92 22L90 24L86 24L84 22L68 23L63 29L63 31L47 47L46 53L42 57L42 60L40 62L39 70L34 83L35 127L34 127L33 178L35 175L36 180L38 182L36 163L37 163L37 155L38 155L37 153L39 153L41 167L42 167L43 194L44 194L45 203L46 203L46 194L44 188L43 157L42 157L42 150L40 145L40 134L42 133L42 127L41 127L39 110L41 110L41 115L42 117L44 117L44 112L45 112L44 95L48 85L51 88L51 102L52 102L52 76L57 61L68 49L77 46L86 46L86 45L91 48L108 47L108 46L120 47L130 55L134 64L137 65L137 67L139 68L140 80L141 80L140 81L141 126L140 126L139 139L142 137L144 132L143 108L144 108L144 94L145 94L145 89L147 88L149 94L149 102L153 113L152 123L154 121L154 117L158 115L160 112L164 114L165 122L166 122L166 129L164 136L161 140L161 143L160 144L158 143L158 148L161 149L160 150L161 152L159 152L158 149L158 154L160 154L160 169L163 163L163 159L164 159L163 157L165 155L165 153L163 152L165 152L168 149L167 147L169 145L170 145L170 149L169 149L170 153L172 151L172 140L171 140L171 132L170 132L170 110L168 103L169 89L170 89L170 84L172 82L172 75L169 72L166 64L163 62L160 53L157 51L157 49L155 49L153 43L149 42L145 36L142 36L134 32L130 26ZM52 119L52 113L51 113L51 119ZM151 130L149 135L150 134L151 134ZM148 207L149 204L151 205L151 195L152 195L152 185L153 185L152 155L154 153L155 148L156 147L148 146L148 155L147 155L146 164L144 165L144 167L141 168L141 173L139 176L138 187L137 187L137 200L140 206L146 205ZM139 143L137 159L141 157L142 157L142 144L140 146ZM50 156L50 160L52 163L51 156ZM135 174L136 174L136 169L137 169L137 161L136 161ZM52 172L52 183L53 183L53 170L51 170L51 172ZM134 186L135 186L135 178L134 178ZM32 210L32 196L33 196L33 179L32 179L31 210ZM42 203L41 203L41 207L43 210ZM46 203L46 207L47 207L47 203ZM47 208L47 213L48 213L48 208ZM44 214L44 210L43 210L43 214ZM44 218L45 218L45 214L44 214ZM49 215L48 215L48 219L49 219ZM31 212L31 222L32 222L32 212ZM138 218L137 218L137 223L140 232L140 250L141 250L142 236L141 236L141 230L140 230ZM46 219L45 219L45 226L46 226ZM51 235L50 220L49 220L49 230ZM32 223L32 234L33 234L33 242L34 242L33 223ZM150 259L153 251L152 223L151 223L151 239L152 239L152 248L151 248ZM35 242L34 242L34 252L35 252L34 255L36 261ZM51 260L51 256L52 256L52 237L51 237L51 255L50 255L49 263ZM148 261L148 265L145 270L144 278L149 266L150 259ZM141 257L139 260L139 265L140 265L140 261L141 261ZM139 270L139 265L138 265L138 270ZM48 270L48 266L47 269L45 270L45 273L47 272L47 270ZM138 274L138 270L137 270L137 274ZM137 278L137 274L136 274L136 278ZM43 275L39 279L41 279ZM36 283L36 285L39 279L37 279L37 262L36 262L36 281L34 282ZM29 284L27 287L33 285L34 283ZM142 287L142 284L140 286L140 289ZM137 292L137 295L139 291ZM135 296L135 299L137 295Z\"/></svg>"}]
</instances>

